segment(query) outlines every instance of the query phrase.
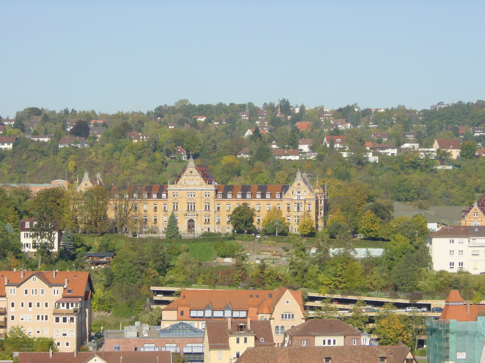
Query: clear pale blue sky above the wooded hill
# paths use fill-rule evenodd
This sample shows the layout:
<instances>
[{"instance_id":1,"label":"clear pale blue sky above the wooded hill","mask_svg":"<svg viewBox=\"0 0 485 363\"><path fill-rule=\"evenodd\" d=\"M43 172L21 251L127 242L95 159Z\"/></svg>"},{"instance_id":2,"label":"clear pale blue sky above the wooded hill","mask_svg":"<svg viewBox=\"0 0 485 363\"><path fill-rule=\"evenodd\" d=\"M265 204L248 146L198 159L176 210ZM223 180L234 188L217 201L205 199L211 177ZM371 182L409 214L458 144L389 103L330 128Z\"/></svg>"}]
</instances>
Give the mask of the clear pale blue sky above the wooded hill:
<instances>
[{"instance_id":1,"label":"clear pale blue sky above the wooded hill","mask_svg":"<svg viewBox=\"0 0 485 363\"><path fill-rule=\"evenodd\" d=\"M485 99L485 1L0 0L0 115ZM135 109L136 110L136 109Z\"/></svg>"}]
</instances>

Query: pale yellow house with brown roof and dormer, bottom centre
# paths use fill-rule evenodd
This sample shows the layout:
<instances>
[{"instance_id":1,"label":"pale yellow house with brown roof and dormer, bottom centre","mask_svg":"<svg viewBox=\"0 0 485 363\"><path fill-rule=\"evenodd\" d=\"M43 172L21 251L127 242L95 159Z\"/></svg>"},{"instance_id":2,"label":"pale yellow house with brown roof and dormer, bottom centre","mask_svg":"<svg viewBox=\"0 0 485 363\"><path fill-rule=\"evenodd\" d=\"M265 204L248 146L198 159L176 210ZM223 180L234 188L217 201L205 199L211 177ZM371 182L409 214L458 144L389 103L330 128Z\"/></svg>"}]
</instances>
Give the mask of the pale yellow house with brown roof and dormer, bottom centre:
<instances>
[{"instance_id":1,"label":"pale yellow house with brown roof and dormer, bottom centre","mask_svg":"<svg viewBox=\"0 0 485 363\"><path fill-rule=\"evenodd\" d=\"M232 363L247 348L274 346L270 320L208 321L204 331L204 363Z\"/></svg>"}]
</instances>

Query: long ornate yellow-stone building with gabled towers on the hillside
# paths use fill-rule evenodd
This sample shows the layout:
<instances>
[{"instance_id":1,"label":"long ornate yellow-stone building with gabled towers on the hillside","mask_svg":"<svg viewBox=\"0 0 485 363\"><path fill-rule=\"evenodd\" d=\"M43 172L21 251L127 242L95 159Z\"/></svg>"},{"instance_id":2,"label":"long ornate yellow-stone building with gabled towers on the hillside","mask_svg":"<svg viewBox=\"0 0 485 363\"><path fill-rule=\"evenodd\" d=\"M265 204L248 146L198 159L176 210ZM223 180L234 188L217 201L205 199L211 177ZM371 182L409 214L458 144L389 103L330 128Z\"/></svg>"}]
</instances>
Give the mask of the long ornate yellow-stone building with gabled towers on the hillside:
<instances>
[{"instance_id":1,"label":"long ornate yellow-stone building with gabled towers on the hillside","mask_svg":"<svg viewBox=\"0 0 485 363\"><path fill-rule=\"evenodd\" d=\"M83 178L80 188L88 187L88 179ZM206 166L195 165L192 159L169 185L105 187L111 193L108 215L113 230L122 233L163 233L171 212L182 234L229 233L229 215L242 203L255 210L258 230L266 213L276 208L283 211L290 232L298 233L298 223L305 213L321 230L327 209L326 186L318 181L310 184L306 173L297 172L291 185L220 185Z\"/></svg>"}]
</instances>

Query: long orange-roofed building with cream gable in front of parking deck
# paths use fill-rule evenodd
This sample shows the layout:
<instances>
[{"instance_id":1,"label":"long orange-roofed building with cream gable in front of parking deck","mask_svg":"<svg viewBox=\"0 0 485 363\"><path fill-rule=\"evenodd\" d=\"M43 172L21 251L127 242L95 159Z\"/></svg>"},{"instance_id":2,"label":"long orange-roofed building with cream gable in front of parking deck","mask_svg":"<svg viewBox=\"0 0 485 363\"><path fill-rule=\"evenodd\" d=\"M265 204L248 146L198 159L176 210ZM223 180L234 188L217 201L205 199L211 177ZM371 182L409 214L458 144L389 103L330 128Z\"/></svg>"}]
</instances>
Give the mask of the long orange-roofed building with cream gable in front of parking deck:
<instances>
[{"instance_id":1,"label":"long orange-roofed building with cream gable in front of parking deck","mask_svg":"<svg viewBox=\"0 0 485 363\"><path fill-rule=\"evenodd\" d=\"M162 323L186 321L199 329L207 321L226 319L269 320L273 341L282 343L286 330L300 324L303 316L301 291L277 290L181 290L180 297L162 309Z\"/></svg>"}]
</instances>

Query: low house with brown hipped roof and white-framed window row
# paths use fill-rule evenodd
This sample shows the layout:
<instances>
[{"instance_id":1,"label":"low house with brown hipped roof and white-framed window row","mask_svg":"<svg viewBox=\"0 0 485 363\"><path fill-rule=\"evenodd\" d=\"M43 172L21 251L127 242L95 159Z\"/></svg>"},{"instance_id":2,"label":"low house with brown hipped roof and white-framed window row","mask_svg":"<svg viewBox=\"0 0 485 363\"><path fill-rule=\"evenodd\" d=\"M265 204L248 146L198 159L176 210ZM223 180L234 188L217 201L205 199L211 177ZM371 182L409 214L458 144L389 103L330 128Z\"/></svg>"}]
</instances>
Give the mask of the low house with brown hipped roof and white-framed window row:
<instances>
[{"instance_id":1,"label":"low house with brown hipped roof and white-framed window row","mask_svg":"<svg viewBox=\"0 0 485 363\"><path fill-rule=\"evenodd\" d=\"M285 347L368 346L370 334L338 319L310 319L285 331Z\"/></svg>"}]
</instances>

